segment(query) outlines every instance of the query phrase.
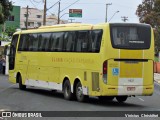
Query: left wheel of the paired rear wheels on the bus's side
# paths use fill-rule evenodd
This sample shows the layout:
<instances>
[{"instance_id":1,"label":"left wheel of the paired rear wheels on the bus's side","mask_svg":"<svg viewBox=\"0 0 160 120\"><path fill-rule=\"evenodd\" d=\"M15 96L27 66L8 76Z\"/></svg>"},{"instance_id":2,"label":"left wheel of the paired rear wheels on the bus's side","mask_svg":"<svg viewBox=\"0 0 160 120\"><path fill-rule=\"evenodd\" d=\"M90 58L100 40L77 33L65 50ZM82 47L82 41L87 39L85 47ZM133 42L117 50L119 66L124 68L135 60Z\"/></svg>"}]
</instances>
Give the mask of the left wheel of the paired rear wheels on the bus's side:
<instances>
[{"instance_id":1,"label":"left wheel of the paired rear wheels on the bus's side","mask_svg":"<svg viewBox=\"0 0 160 120\"><path fill-rule=\"evenodd\" d=\"M70 84L69 80L66 80L64 82L63 95L64 95L64 99L66 99L66 100L71 100L73 97L73 94L71 92L71 84Z\"/></svg>"}]
</instances>

